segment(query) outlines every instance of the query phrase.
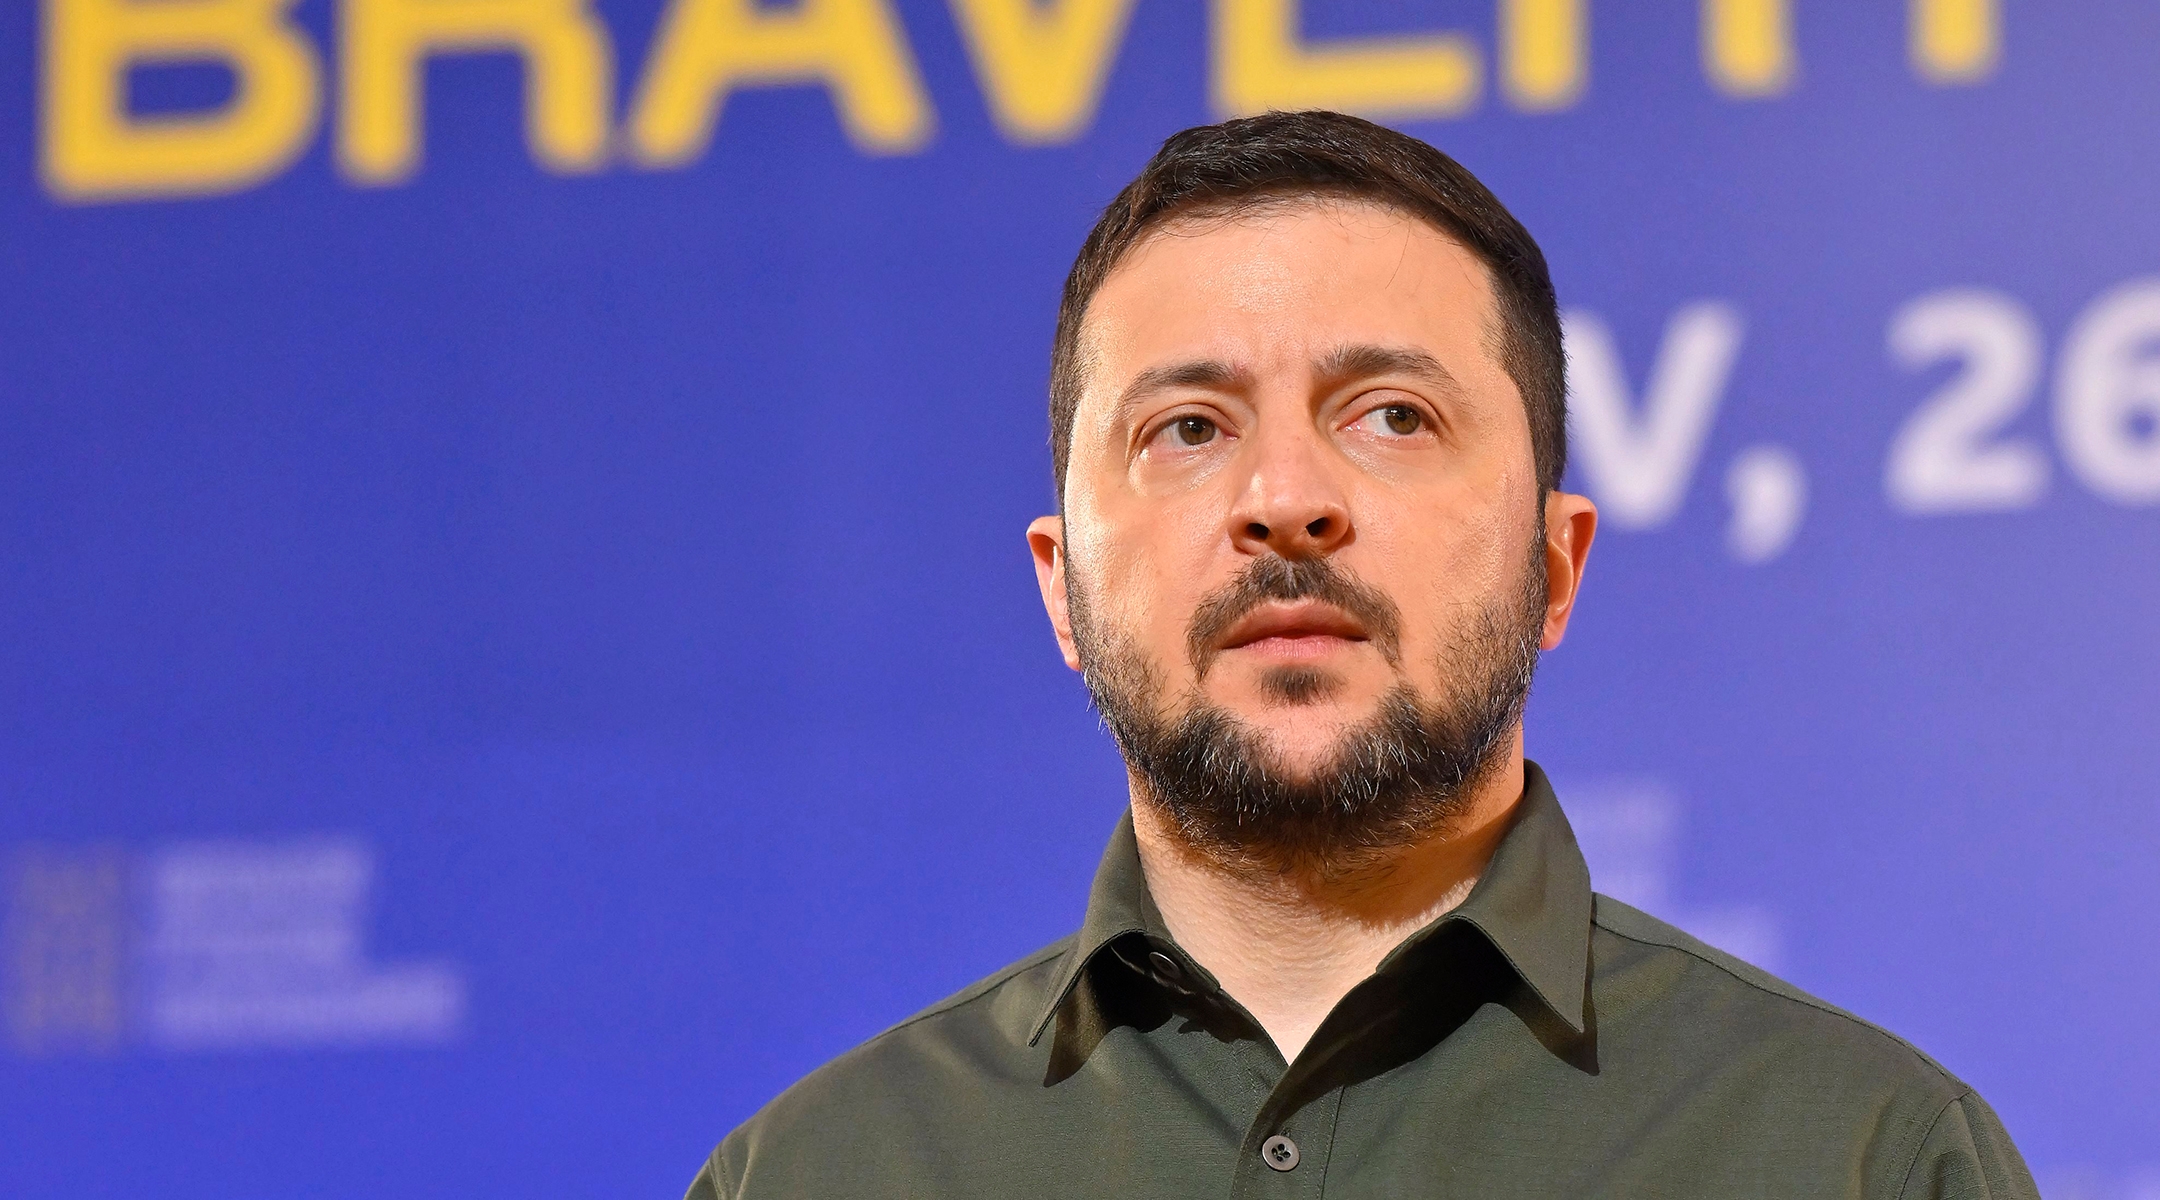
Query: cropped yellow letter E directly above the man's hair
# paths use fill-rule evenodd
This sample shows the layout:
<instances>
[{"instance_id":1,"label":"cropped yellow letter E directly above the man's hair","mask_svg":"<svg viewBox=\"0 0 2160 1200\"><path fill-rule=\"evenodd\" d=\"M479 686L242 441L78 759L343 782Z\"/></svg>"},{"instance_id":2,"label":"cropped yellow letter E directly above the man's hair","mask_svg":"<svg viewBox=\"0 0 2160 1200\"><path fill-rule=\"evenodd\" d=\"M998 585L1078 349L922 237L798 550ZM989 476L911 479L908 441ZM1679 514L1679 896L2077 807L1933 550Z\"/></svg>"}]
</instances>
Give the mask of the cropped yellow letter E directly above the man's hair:
<instances>
[{"instance_id":1,"label":"cropped yellow letter E directly above the man's hair","mask_svg":"<svg viewBox=\"0 0 2160 1200\"><path fill-rule=\"evenodd\" d=\"M1223 114L1344 108L1367 117L1460 117L1477 106L1467 37L1298 41L1298 0L1216 0L1214 101Z\"/></svg>"}]
</instances>

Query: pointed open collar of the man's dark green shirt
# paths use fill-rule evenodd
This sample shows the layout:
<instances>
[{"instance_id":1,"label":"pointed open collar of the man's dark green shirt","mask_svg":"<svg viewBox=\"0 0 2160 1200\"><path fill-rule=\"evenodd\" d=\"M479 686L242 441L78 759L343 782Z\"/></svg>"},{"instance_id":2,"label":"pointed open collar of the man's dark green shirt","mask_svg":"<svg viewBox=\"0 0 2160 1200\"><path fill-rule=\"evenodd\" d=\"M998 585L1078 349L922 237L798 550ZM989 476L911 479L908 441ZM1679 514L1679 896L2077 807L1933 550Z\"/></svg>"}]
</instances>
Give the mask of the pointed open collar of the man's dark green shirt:
<instances>
[{"instance_id":1,"label":"pointed open collar of the man's dark green shirt","mask_svg":"<svg viewBox=\"0 0 2160 1200\"><path fill-rule=\"evenodd\" d=\"M1514 967L1514 973L1572 1032L1585 1029L1590 868L1575 844L1568 818L1560 812L1551 781L1536 762L1523 764L1523 799L1469 898L1404 939L1380 960L1380 969L1417 954L1436 930L1454 922L1482 932ZM1089 963L1112 941L1134 932L1171 941L1162 913L1147 891L1140 846L1128 812L1119 818L1117 831L1110 833L1102 865L1095 868L1095 885L1089 889L1080 935L1058 960L1056 982L1035 1021L1028 1045L1041 1040Z\"/></svg>"}]
</instances>

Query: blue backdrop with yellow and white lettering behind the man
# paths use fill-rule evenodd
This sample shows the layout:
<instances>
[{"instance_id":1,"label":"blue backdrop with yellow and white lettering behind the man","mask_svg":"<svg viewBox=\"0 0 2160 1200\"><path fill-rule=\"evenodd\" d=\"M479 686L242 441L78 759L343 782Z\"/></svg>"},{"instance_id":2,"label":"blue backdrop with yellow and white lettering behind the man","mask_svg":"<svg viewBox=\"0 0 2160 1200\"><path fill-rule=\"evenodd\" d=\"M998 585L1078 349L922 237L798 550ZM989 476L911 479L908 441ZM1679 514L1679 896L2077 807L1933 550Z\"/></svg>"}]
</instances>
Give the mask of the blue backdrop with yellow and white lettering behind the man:
<instances>
[{"instance_id":1,"label":"blue backdrop with yellow and white lettering behind the man","mask_svg":"<svg viewBox=\"0 0 2160 1200\"><path fill-rule=\"evenodd\" d=\"M1162 136L1328 104L1570 311L1529 747L1598 885L2160 1196L2156 63L2141 0L0 6L0 1194L674 1196L1069 932L1056 289Z\"/></svg>"}]
</instances>

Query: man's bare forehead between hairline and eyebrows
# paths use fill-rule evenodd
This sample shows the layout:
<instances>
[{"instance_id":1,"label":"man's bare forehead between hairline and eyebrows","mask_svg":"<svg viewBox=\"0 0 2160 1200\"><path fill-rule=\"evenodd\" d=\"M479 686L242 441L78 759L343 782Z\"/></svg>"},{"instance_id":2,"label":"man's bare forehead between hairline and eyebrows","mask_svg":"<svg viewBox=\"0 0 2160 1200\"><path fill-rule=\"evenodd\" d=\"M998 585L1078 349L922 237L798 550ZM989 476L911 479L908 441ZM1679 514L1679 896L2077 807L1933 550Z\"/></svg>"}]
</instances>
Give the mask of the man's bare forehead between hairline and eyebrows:
<instances>
[{"instance_id":1,"label":"man's bare forehead between hairline and eyebrows","mask_svg":"<svg viewBox=\"0 0 2160 1200\"><path fill-rule=\"evenodd\" d=\"M1495 328L1486 265L1400 209L1298 199L1175 218L1128 250L1089 304L1082 404L1194 354L1268 373L1341 345L1404 345L1458 376L1499 371Z\"/></svg>"}]
</instances>

